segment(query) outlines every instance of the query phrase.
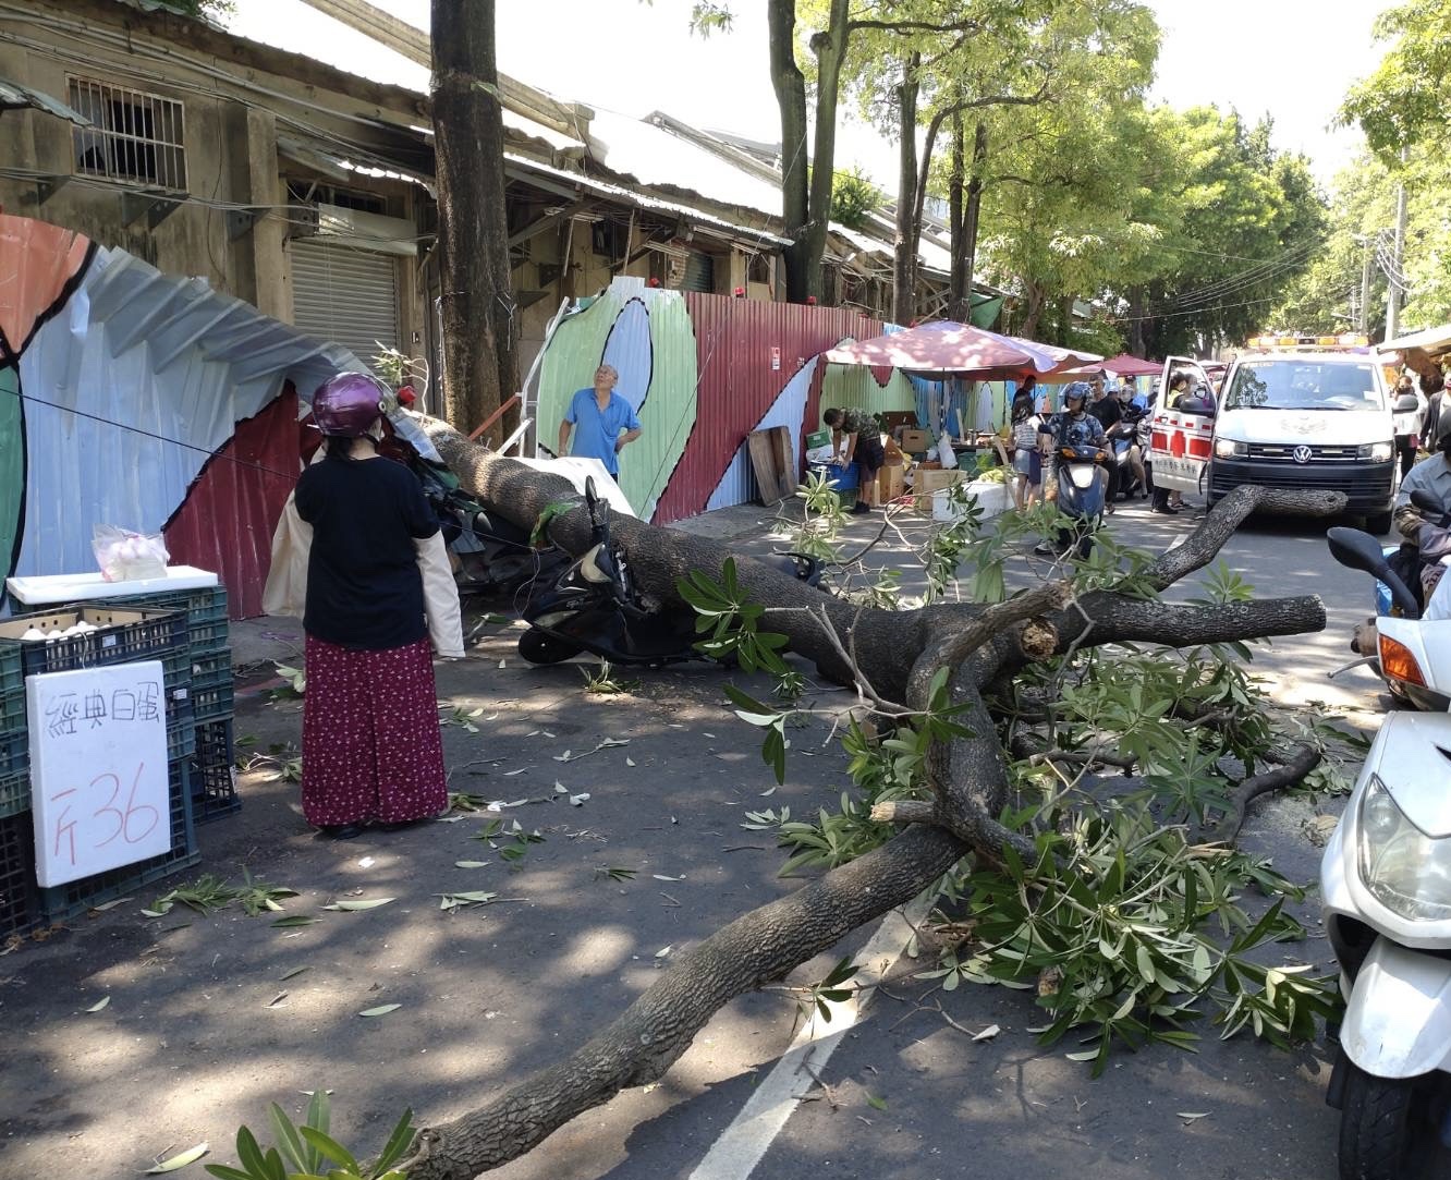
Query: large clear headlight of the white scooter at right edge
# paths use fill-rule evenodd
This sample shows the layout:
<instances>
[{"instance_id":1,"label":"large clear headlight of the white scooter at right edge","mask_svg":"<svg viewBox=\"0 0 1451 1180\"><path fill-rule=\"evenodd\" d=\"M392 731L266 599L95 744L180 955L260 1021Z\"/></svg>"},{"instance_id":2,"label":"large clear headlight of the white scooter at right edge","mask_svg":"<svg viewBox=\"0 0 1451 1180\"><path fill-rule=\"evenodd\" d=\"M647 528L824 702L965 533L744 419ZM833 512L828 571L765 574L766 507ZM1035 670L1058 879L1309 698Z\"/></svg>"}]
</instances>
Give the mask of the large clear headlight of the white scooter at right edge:
<instances>
[{"instance_id":1,"label":"large clear headlight of the white scooter at right edge","mask_svg":"<svg viewBox=\"0 0 1451 1180\"><path fill-rule=\"evenodd\" d=\"M1378 775L1361 800L1360 877L1371 897L1412 922L1451 919L1451 839L1434 839L1406 819Z\"/></svg>"}]
</instances>

